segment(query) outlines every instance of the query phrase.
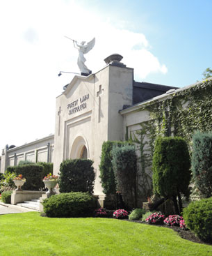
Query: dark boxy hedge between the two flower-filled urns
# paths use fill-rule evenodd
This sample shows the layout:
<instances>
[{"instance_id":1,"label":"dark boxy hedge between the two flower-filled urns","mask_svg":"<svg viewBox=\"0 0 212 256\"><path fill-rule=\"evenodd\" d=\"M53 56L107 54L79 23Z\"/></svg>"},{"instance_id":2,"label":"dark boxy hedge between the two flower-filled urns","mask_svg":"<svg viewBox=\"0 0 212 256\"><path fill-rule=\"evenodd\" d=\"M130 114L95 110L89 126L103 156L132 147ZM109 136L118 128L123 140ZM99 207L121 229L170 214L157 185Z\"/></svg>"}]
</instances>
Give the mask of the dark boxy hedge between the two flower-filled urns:
<instances>
[{"instance_id":1,"label":"dark boxy hedge between the two flower-filled urns","mask_svg":"<svg viewBox=\"0 0 212 256\"><path fill-rule=\"evenodd\" d=\"M22 174L26 179L26 183L22 186L23 190L40 190L43 188L42 165L17 165L14 167L14 172L16 175Z\"/></svg>"}]
</instances>

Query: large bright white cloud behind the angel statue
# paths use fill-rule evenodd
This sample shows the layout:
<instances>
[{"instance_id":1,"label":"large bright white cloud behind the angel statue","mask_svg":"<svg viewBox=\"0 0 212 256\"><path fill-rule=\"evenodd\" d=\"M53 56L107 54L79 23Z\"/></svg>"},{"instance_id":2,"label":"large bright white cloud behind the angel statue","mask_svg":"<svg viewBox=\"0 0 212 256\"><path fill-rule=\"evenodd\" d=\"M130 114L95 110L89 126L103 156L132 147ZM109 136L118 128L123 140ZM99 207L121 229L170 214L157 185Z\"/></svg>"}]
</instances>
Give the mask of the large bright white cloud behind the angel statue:
<instances>
[{"instance_id":1,"label":"large bright white cloud behind the angel statue","mask_svg":"<svg viewBox=\"0 0 212 256\"><path fill-rule=\"evenodd\" d=\"M64 36L79 42L96 37L95 47L85 55L93 72L106 65L106 57L118 53L134 68L137 80L167 73L144 34L124 29L127 21L115 26L110 20L77 1L1 1L0 147L54 133L55 98L72 79L57 74L79 72L77 50Z\"/></svg>"}]
</instances>

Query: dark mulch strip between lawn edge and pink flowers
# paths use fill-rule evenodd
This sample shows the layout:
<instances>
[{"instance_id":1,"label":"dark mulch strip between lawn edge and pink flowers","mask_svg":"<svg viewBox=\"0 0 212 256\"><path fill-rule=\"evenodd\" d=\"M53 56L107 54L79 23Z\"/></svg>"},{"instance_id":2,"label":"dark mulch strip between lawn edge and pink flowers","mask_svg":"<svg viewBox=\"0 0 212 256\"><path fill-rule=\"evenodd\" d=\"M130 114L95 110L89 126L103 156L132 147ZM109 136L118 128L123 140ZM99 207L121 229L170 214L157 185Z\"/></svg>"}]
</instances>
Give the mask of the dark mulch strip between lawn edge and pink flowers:
<instances>
[{"instance_id":1,"label":"dark mulch strip between lawn edge and pink flowers","mask_svg":"<svg viewBox=\"0 0 212 256\"><path fill-rule=\"evenodd\" d=\"M145 223L141 220L127 220L127 221L131 221L133 223L140 223L140 224L144 224L144 225L151 225L151 224ZM167 228L173 229L175 232L177 232L177 234L179 234L179 236L181 236L182 239L186 239L186 240L189 240L189 241L192 241L192 242L195 242L195 243L203 243L203 244L206 244L208 246L212 245L212 242L211 243L206 243L206 242L200 240L197 236L195 236L195 233L193 233L189 229L185 230L185 229L181 229L180 227L177 227L177 226L170 227L170 226L167 226L167 225L157 225L157 226L167 227Z\"/></svg>"}]
</instances>

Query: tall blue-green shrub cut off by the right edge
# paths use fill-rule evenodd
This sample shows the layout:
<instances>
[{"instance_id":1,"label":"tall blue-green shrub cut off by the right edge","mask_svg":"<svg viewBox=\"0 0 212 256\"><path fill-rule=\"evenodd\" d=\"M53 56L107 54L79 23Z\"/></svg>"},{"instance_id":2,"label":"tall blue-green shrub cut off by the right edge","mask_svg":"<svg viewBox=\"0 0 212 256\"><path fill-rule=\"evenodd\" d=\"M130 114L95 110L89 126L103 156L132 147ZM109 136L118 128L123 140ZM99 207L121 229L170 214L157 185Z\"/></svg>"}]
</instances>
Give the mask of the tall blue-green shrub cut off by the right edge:
<instances>
[{"instance_id":1,"label":"tall blue-green shrub cut off by the right edge","mask_svg":"<svg viewBox=\"0 0 212 256\"><path fill-rule=\"evenodd\" d=\"M192 172L202 197L212 196L212 133L193 136Z\"/></svg>"}]
</instances>

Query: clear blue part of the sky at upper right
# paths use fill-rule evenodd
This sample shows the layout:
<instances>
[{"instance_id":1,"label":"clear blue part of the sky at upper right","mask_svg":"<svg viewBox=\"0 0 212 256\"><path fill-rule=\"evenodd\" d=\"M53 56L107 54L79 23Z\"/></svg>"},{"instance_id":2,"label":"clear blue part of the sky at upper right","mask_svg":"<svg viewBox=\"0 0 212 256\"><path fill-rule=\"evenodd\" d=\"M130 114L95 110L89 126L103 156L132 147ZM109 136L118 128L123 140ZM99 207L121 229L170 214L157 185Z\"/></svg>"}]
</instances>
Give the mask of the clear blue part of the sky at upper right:
<instances>
[{"instance_id":1,"label":"clear blue part of the sky at upper right","mask_svg":"<svg viewBox=\"0 0 212 256\"><path fill-rule=\"evenodd\" d=\"M212 68L211 0L94 2L104 13L113 6L113 15L126 19L128 29L144 33L151 52L167 66L168 73L149 74L146 82L182 87Z\"/></svg>"}]
</instances>

